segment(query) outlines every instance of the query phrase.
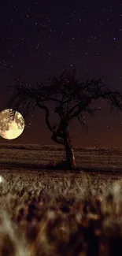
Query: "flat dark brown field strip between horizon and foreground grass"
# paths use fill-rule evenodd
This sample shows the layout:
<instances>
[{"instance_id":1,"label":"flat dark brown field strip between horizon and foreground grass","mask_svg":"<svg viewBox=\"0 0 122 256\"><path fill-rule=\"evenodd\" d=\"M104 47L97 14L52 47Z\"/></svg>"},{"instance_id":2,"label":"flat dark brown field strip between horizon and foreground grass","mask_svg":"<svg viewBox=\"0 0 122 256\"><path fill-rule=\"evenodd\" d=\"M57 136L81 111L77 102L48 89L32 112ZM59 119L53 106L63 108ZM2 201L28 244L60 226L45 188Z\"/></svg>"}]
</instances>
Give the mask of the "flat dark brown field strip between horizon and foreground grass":
<instances>
[{"instance_id":1,"label":"flat dark brown field strip between horizon and foreground grass","mask_svg":"<svg viewBox=\"0 0 122 256\"><path fill-rule=\"evenodd\" d=\"M81 169L121 171L122 148L75 148L76 165ZM65 160L63 147L0 144L1 168L42 169L50 161Z\"/></svg>"}]
</instances>

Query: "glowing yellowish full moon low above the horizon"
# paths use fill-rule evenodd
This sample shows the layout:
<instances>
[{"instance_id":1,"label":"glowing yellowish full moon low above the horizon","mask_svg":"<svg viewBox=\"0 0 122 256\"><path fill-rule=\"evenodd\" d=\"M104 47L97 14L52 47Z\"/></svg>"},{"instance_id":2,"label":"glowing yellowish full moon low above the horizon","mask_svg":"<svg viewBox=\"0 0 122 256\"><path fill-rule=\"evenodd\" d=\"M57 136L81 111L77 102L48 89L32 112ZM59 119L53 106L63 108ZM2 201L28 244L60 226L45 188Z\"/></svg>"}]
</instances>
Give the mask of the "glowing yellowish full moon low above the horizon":
<instances>
[{"instance_id":1,"label":"glowing yellowish full moon low above the horizon","mask_svg":"<svg viewBox=\"0 0 122 256\"><path fill-rule=\"evenodd\" d=\"M16 139L24 132L24 118L17 111L12 117L11 110L5 109L0 113L0 136L3 139Z\"/></svg>"}]
</instances>

